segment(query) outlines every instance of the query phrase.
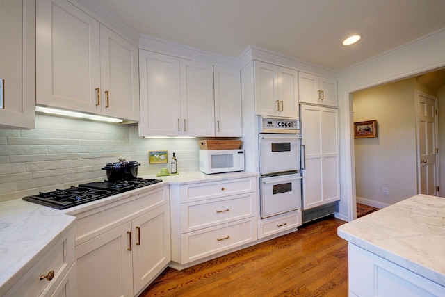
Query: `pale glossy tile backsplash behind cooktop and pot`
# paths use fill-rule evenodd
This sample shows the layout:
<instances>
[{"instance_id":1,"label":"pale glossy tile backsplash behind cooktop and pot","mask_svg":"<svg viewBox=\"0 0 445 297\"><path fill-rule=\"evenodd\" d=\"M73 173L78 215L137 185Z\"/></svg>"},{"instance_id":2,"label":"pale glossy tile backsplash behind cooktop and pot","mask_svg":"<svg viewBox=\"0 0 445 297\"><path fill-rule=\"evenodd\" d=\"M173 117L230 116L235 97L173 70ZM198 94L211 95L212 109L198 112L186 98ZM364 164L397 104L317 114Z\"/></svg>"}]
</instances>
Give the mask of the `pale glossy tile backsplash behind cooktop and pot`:
<instances>
[{"instance_id":1,"label":"pale glossy tile backsplash behind cooktop and pot","mask_svg":"<svg viewBox=\"0 0 445 297\"><path fill-rule=\"evenodd\" d=\"M140 138L137 125L36 115L35 129L0 129L0 202L106 179L102 167L118 158L138 161L138 175L168 164L149 164L148 152L176 152L178 172L198 170L200 138Z\"/></svg>"}]
</instances>

